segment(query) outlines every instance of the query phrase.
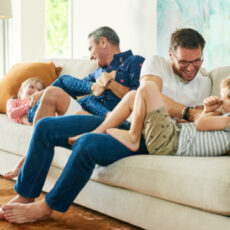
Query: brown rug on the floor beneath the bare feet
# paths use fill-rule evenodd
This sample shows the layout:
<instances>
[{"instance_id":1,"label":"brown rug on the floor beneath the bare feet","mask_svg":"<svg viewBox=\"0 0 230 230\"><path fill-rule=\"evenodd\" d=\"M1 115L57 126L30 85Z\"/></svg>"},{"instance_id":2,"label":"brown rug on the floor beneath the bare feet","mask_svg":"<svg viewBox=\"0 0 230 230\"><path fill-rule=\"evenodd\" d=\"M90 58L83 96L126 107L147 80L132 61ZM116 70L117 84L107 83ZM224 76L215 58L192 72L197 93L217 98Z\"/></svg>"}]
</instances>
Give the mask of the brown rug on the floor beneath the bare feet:
<instances>
[{"instance_id":1,"label":"brown rug on the floor beneath the bare feet","mask_svg":"<svg viewBox=\"0 0 230 230\"><path fill-rule=\"evenodd\" d=\"M14 181L0 176L0 205L15 196ZM42 194L41 197L44 197ZM53 212L50 219L32 224L10 224L0 220L0 230L138 230L140 228L73 204L68 212Z\"/></svg>"}]
</instances>

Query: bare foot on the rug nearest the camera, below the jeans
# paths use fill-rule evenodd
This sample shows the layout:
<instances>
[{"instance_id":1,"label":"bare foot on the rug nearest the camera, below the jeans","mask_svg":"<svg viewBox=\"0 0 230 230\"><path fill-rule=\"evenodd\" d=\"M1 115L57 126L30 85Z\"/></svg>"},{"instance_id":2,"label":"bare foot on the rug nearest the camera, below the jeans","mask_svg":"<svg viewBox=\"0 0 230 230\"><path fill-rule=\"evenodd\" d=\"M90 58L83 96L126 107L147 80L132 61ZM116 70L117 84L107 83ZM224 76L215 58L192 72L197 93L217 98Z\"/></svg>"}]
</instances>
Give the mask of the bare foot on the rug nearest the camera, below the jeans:
<instances>
[{"instance_id":1,"label":"bare foot on the rug nearest the camera, below the jeans","mask_svg":"<svg viewBox=\"0 0 230 230\"><path fill-rule=\"evenodd\" d=\"M50 217L52 209L45 200L28 204L7 204L2 206L3 215L10 223L31 223Z\"/></svg>"}]
</instances>

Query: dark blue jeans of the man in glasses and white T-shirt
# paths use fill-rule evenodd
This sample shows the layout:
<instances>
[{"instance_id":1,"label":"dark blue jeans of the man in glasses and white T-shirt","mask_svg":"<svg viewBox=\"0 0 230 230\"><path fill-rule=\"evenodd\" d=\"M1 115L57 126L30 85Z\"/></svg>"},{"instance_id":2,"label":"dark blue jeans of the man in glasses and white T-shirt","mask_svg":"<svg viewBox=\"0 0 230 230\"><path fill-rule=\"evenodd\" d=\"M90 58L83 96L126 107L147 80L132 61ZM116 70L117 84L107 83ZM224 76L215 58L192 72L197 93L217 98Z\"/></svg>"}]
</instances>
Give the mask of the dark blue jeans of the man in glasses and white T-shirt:
<instances>
[{"instance_id":1,"label":"dark blue jeans of the man in glasses and white T-shirt","mask_svg":"<svg viewBox=\"0 0 230 230\"><path fill-rule=\"evenodd\" d=\"M101 122L103 119L100 117L86 115L47 117L38 121L26 160L15 184L16 192L27 198L40 195L51 166L55 146L72 149L72 154L62 174L45 197L47 204L60 212L68 210L90 179L96 164L107 166L124 157L147 154L143 137L141 147L137 152L129 151L107 134L88 133L73 146L68 144L68 137L90 132Z\"/></svg>"}]
</instances>

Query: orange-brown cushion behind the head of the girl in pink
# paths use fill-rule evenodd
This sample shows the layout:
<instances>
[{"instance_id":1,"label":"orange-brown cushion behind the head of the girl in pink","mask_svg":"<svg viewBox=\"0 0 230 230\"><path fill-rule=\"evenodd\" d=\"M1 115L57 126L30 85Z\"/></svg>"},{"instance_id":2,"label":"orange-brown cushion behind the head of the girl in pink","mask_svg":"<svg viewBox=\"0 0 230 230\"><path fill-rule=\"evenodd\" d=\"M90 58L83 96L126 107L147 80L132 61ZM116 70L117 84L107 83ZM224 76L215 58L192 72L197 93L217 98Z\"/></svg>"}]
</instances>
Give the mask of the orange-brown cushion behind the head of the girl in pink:
<instances>
[{"instance_id":1,"label":"orange-brown cushion behind the head of the girl in pink","mask_svg":"<svg viewBox=\"0 0 230 230\"><path fill-rule=\"evenodd\" d=\"M17 96L23 81L36 77L48 86L58 77L60 71L61 67L55 67L52 62L15 64L0 82L0 112L6 112L7 100Z\"/></svg>"}]
</instances>

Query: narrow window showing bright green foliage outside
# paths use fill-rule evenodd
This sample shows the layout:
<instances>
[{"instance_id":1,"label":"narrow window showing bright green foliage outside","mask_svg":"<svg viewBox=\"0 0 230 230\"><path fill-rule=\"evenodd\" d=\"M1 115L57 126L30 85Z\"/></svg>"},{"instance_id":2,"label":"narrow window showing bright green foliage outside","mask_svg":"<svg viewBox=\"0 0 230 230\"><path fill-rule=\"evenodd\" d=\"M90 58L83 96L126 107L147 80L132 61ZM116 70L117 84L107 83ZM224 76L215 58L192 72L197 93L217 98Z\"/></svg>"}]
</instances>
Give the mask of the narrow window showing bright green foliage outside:
<instances>
[{"instance_id":1,"label":"narrow window showing bright green foliage outside","mask_svg":"<svg viewBox=\"0 0 230 230\"><path fill-rule=\"evenodd\" d=\"M70 57L69 0L46 0L46 56Z\"/></svg>"}]
</instances>

